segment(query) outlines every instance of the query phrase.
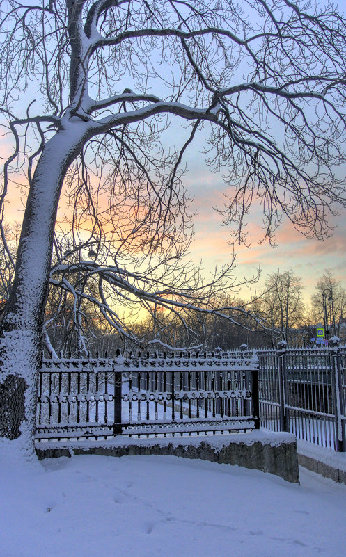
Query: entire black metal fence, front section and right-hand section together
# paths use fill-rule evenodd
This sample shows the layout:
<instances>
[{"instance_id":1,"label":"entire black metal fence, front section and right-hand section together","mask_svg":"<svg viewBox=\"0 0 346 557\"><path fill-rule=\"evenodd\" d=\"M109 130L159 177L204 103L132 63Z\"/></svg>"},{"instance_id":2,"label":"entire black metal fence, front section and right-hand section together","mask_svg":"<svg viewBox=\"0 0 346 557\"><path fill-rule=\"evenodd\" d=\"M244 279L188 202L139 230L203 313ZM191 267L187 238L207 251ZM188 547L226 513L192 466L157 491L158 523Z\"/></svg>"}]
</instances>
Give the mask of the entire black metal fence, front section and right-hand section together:
<instances>
[{"instance_id":1,"label":"entire black metal fence, front section and right-hand section together","mask_svg":"<svg viewBox=\"0 0 346 557\"><path fill-rule=\"evenodd\" d=\"M346 451L345 347L43 360L37 438L262 427Z\"/></svg>"}]
</instances>

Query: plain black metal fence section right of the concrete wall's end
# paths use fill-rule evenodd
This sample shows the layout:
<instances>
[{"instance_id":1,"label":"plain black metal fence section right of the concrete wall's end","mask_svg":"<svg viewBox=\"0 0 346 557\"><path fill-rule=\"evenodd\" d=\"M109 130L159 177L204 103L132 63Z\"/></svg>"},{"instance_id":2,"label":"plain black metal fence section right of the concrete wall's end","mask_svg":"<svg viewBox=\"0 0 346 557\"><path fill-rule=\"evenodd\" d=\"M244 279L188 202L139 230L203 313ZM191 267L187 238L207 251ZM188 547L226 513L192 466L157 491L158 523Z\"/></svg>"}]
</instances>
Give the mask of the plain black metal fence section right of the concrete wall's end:
<instances>
[{"instance_id":1,"label":"plain black metal fence section right of the concrete wall's end","mask_svg":"<svg viewBox=\"0 0 346 557\"><path fill-rule=\"evenodd\" d=\"M262 426L346 451L345 347L281 346L257 355Z\"/></svg>"}]
</instances>

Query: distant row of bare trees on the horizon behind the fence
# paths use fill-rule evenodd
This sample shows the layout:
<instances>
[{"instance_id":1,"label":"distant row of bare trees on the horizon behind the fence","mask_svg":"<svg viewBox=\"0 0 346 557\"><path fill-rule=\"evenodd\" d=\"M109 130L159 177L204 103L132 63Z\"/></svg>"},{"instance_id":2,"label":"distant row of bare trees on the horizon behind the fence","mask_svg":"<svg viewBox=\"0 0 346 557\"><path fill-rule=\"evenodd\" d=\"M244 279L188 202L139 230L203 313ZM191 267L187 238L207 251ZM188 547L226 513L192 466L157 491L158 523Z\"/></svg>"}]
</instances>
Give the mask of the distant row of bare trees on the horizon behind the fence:
<instances>
[{"instance_id":1,"label":"distant row of bare trees on the horizon behind the fence","mask_svg":"<svg viewBox=\"0 0 346 557\"><path fill-rule=\"evenodd\" d=\"M7 225L8 244L16 257L18 225ZM77 253L79 257L79 253ZM72 254L76 259L76 255ZM78 261L74 273L76 284L85 280L79 276ZM8 299L13 280L12 267L3 248L0 249L0 299ZM77 287L77 286L76 286ZM200 348L211 351L239 348L247 344L252 348L275 347L279 341L290 346L308 346L316 336L317 325L327 329L325 337L336 335L346 340L343 317L346 314L346 289L329 269L317 280L310 304L304 301L301 278L292 270L276 271L267 275L259 293L246 300L223 289L213 294L210 305L219 309L217 314L196 314L183 308L184 318L152 307L146 317L132 314L124 319L129 337L124 339L111 328L102 314L89 300L95 284L86 291L84 300L76 305L74 296L65 291L57 296L50 289L45 309L42 349L45 355L116 354L123 350L170 350L171 348ZM96 293L94 292L95 296ZM111 305L111 301L109 301ZM233 307L233 314L230 307ZM116 307L113 308L116 311ZM224 314L225 317L221 315ZM228 319L226 318L228 317ZM231 319L229 319L231 317Z\"/></svg>"}]
</instances>

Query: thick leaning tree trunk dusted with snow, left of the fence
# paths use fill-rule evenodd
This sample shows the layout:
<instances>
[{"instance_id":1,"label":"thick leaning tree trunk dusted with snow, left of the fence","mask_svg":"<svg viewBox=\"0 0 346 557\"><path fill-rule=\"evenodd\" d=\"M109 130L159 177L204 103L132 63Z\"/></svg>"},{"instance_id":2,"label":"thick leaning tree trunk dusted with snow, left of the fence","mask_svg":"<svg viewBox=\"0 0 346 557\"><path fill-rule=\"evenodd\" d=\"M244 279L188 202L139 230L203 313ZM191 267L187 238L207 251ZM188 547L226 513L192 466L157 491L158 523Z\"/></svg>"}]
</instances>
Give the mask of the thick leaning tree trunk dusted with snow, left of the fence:
<instances>
[{"instance_id":1,"label":"thick leaning tree trunk dusted with snow, left of the fence","mask_svg":"<svg viewBox=\"0 0 346 557\"><path fill-rule=\"evenodd\" d=\"M85 132L85 129L84 129ZM33 450L45 300L63 178L84 134L58 131L38 161L26 203L13 289L0 325L0 436Z\"/></svg>"}]
</instances>

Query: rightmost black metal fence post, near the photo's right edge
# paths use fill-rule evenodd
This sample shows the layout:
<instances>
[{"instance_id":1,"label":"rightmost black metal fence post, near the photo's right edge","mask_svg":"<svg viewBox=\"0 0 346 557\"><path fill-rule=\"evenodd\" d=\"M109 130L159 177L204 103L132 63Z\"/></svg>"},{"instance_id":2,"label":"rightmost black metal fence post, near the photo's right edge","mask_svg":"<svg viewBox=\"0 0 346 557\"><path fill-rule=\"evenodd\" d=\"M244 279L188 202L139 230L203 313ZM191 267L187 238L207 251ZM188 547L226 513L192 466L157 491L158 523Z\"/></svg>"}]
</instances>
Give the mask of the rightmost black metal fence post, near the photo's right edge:
<instances>
[{"instance_id":1,"label":"rightmost black metal fence post, near the photo's right edge","mask_svg":"<svg viewBox=\"0 0 346 557\"><path fill-rule=\"evenodd\" d=\"M343 374L341 369L340 339L338 339L338 337L331 337L331 339L329 339L329 346L333 348L333 350L331 350L331 361L333 369L333 401L336 426L336 450L338 452L345 452L346 436L345 424L343 423L343 416L345 416L345 404L343 397Z\"/></svg>"}]
</instances>

